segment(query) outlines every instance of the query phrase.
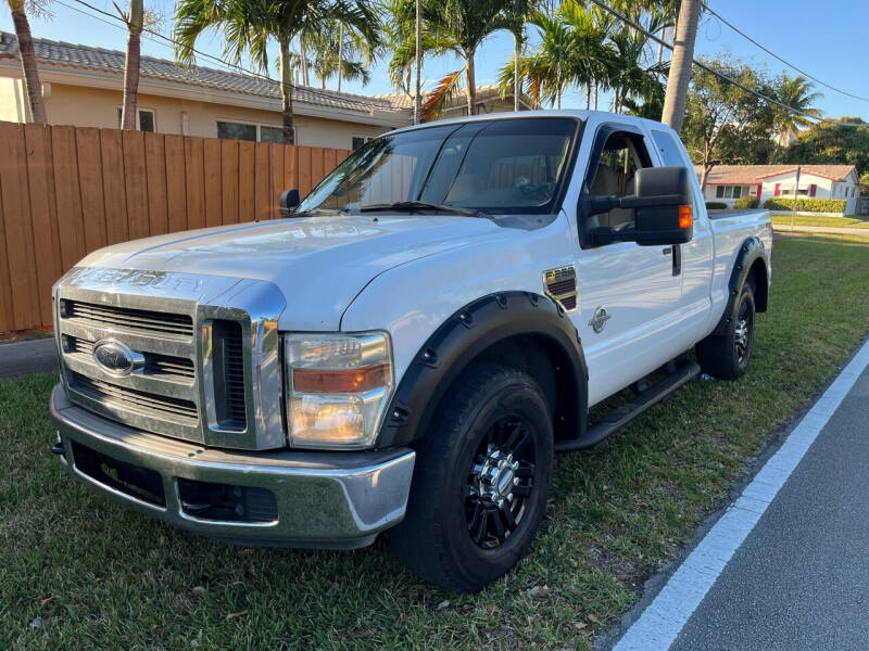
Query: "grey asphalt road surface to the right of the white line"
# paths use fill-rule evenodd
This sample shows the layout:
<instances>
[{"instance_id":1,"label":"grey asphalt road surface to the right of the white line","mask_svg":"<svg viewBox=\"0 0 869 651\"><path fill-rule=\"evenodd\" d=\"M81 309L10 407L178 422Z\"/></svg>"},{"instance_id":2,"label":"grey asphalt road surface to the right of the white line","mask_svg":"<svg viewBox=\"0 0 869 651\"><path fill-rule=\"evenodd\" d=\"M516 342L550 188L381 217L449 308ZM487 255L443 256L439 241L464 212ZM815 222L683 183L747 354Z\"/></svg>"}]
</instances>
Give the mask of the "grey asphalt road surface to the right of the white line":
<instances>
[{"instance_id":1,"label":"grey asphalt road surface to the right of the white line","mask_svg":"<svg viewBox=\"0 0 869 651\"><path fill-rule=\"evenodd\" d=\"M869 649L869 369L671 650Z\"/></svg>"}]
</instances>

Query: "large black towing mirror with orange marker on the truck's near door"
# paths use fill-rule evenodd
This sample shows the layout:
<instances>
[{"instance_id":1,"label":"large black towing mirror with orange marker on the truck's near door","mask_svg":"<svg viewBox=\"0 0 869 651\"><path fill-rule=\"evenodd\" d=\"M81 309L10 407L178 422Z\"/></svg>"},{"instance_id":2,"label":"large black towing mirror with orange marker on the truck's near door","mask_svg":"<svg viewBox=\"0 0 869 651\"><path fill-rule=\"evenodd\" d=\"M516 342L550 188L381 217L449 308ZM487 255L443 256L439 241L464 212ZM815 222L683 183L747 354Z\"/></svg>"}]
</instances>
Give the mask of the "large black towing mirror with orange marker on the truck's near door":
<instances>
[{"instance_id":1,"label":"large black towing mirror with orange marker on the truck's near door","mask_svg":"<svg viewBox=\"0 0 869 651\"><path fill-rule=\"evenodd\" d=\"M641 246L684 244L694 235L688 167L644 167L634 175L635 194L588 196L588 215L633 209L634 221L620 228L592 229L595 244L637 242Z\"/></svg>"}]
</instances>

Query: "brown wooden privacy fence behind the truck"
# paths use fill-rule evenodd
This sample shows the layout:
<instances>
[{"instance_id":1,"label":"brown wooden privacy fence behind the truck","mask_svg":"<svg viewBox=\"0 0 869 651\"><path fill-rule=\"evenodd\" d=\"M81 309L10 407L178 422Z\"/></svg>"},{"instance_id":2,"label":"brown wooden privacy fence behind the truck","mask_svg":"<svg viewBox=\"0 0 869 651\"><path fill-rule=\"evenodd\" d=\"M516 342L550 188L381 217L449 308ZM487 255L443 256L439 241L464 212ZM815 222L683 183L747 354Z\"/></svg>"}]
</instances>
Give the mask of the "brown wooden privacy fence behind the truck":
<instances>
[{"instance_id":1,"label":"brown wooden privacy fence behind the truck","mask_svg":"<svg viewBox=\"0 0 869 651\"><path fill-rule=\"evenodd\" d=\"M350 152L0 122L0 332L51 327L51 285L86 254L278 217Z\"/></svg>"}]
</instances>

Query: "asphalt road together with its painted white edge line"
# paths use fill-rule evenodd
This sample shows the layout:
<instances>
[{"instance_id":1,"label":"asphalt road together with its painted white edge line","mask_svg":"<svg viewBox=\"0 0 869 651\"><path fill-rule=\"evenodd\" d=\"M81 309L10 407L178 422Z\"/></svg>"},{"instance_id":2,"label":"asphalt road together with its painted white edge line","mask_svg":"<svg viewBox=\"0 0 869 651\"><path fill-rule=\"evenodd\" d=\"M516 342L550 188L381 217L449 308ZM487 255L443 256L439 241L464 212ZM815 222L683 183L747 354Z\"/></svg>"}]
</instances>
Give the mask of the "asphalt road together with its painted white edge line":
<instances>
[{"instance_id":1,"label":"asphalt road together with its painted white edge line","mask_svg":"<svg viewBox=\"0 0 869 651\"><path fill-rule=\"evenodd\" d=\"M869 343L628 615L617 651L869 649L867 365Z\"/></svg>"}]
</instances>

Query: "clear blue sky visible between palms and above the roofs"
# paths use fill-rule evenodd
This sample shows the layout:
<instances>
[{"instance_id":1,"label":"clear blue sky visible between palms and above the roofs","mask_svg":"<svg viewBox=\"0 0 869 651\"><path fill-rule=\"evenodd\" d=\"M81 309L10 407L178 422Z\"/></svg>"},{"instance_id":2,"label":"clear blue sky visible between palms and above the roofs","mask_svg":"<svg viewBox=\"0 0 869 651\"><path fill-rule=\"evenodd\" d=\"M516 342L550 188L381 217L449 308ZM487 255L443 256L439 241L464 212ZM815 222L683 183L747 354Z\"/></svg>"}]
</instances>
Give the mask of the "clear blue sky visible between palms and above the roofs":
<instances>
[{"instance_id":1,"label":"clear blue sky visible between palms and above the roofs","mask_svg":"<svg viewBox=\"0 0 869 651\"><path fill-rule=\"evenodd\" d=\"M67 42L98 46L124 50L126 33L123 24L103 17L101 22L92 13L77 4L75 0L49 0L53 17L43 20L33 17L30 28L35 37ZM61 2L63 4L61 4ZM90 4L104 11L116 13L111 0L88 0ZM866 0L707 0L708 5L728 22L776 52L785 61L796 65L811 76L852 94L869 98L869 56L866 56L867 25L869 25L869 2ZM118 1L122 7L125 4ZM172 28L172 0L146 0L146 7L162 12L165 16L160 30L168 34ZM77 8L80 11L75 11ZM0 10L0 30L14 31L9 12ZM705 15L695 47L695 56L713 56L729 52L774 76L788 72L797 73L766 54L763 50L732 31L717 18ZM533 31L533 30L532 30ZM223 43L219 37L203 37L198 49L217 56L222 55ZM509 60L513 40L507 34L492 35L476 56L478 85L491 84L498 71ZM142 53L151 56L172 59L171 46L159 39L146 38ZM200 65L214 67L213 62L200 60ZM424 62L424 88L434 85L446 73L458 69L462 63L452 56L426 59ZM276 73L273 71L273 76ZM370 69L371 81L342 85L342 90L363 94L394 92L390 86L386 61ZM312 82L314 82L312 80ZM332 79L328 88L335 88ZM859 116L869 122L869 100L858 100L816 84L823 98L817 102L824 116ZM607 107L608 99L601 98L599 106ZM563 106L584 107L584 92L570 91L563 99Z\"/></svg>"}]
</instances>

